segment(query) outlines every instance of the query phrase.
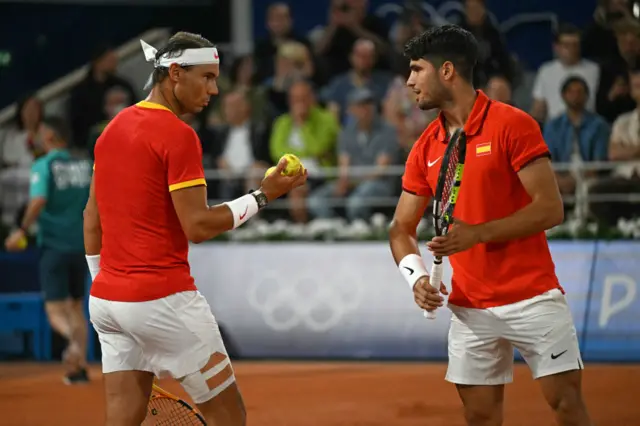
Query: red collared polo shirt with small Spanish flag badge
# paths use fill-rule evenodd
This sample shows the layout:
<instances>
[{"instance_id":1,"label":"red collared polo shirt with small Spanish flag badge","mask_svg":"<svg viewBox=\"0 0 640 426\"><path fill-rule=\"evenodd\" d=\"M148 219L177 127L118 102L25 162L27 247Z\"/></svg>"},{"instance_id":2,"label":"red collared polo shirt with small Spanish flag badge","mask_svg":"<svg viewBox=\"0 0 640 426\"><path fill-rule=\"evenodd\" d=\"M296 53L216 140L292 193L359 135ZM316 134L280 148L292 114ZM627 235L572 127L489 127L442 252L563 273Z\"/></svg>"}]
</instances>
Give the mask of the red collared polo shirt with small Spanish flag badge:
<instances>
[{"instance_id":1,"label":"red collared polo shirt with small Spanish flag badge","mask_svg":"<svg viewBox=\"0 0 640 426\"><path fill-rule=\"evenodd\" d=\"M538 123L527 113L489 100L478 91L464 127L467 155L454 216L470 225L510 216L531 202L518 172L549 150ZM444 118L434 120L413 146L403 189L432 197L447 146ZM560 288L544 232L502 243L477 244L449 257L453 268L449 303L489 308Z\"/></svg>"}]
</instances>

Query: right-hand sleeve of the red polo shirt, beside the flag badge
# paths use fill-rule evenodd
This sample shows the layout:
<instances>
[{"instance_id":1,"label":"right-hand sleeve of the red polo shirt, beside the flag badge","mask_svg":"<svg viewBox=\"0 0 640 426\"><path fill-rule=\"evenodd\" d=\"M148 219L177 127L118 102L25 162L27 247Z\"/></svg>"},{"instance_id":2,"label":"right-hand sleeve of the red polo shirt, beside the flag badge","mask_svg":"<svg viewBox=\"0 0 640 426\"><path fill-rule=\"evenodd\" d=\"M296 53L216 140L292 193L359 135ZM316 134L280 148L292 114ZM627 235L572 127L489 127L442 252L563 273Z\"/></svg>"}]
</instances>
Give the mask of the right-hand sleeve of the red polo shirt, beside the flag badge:
<instances>
[{"instance_id":1,"label":"right-hand sleeve of the red polo shirt, beside the flag badge","mask_svg":"<svg viewBox=\"0 0 640 426\"><path fill-rule=\"evenodd\" d=\"M551 157L540 125L527 113L519 111L511 122L510 130L510 136L506 138L507 153L516 172L538 158Z\"/></svg>"}]
</instances>

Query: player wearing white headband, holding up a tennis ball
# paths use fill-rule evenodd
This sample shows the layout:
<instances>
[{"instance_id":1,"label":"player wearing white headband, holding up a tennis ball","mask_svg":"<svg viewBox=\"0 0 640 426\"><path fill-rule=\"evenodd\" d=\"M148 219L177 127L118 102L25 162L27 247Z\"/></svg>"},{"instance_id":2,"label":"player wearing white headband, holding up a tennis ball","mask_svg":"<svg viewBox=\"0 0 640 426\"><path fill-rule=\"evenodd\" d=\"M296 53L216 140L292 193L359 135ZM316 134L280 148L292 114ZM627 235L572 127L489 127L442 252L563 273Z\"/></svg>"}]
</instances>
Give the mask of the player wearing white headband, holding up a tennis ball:
<instances>
[{"instance_id":1,"label":"player wearing white headband, holding up a tennis ball","mask_svg":"<svg viewBox=\"0 0 640 426\"><path fill-rule=\"evenodd\" d=\"M218 93L218 51L184 32L157 51L141 43L154 66L151 92L98 139L85 209L89 311L102 347L106 425L142 423L154 375L179 380L209 424L245 425L218 325L190 275L188 241L237 228L303 185L306 174L282 175L282 161L260 189L208 206L201 144L179 117L199 113Z\"/></svg>"}]
</instances>

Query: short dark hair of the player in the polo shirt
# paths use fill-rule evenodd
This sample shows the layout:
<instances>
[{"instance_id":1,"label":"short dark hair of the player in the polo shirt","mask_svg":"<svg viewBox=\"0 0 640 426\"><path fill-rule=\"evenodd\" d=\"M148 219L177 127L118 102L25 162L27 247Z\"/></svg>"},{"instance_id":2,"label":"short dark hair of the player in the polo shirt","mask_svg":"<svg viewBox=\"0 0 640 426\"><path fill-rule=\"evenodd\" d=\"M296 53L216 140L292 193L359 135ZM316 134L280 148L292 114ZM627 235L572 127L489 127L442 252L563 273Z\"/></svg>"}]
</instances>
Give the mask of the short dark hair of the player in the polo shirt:
<instances>
[{"instance_id":1,"label":"short dark hair of the player in the polo shirt","mask_svg":"<svg viewBox=\"0 0 640 426\"><path fill-rule=\"evenodd\" d=\"M412 38L404 47L404 55L413 61L425 59L439 68L451 62L465 80L473 80L478 62L478 41L473 34L457 25L433 27Z\"/></svg>"}]
</instances>

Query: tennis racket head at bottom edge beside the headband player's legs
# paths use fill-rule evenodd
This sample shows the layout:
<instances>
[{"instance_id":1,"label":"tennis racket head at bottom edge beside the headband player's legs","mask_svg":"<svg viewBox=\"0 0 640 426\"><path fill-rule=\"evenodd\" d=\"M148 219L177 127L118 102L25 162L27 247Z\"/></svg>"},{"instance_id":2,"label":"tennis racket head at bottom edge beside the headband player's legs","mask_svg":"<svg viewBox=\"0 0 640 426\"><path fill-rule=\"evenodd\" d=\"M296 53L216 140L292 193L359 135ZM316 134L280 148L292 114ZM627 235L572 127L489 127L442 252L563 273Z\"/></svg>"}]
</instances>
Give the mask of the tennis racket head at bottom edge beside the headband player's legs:
<instances>
[{"instance_id":1,"label":"tennis racket head at bottom edge beside the headband player's legs","mask_svg":"<svg viewBox=\"0 0 640 426\"><path fill-rule=\"evenodd\" d=\"M147 417L141 426L202 426L204 418L182 399L153 384Z\"/></svg>"}]
</instances>

